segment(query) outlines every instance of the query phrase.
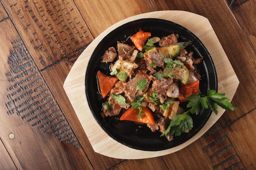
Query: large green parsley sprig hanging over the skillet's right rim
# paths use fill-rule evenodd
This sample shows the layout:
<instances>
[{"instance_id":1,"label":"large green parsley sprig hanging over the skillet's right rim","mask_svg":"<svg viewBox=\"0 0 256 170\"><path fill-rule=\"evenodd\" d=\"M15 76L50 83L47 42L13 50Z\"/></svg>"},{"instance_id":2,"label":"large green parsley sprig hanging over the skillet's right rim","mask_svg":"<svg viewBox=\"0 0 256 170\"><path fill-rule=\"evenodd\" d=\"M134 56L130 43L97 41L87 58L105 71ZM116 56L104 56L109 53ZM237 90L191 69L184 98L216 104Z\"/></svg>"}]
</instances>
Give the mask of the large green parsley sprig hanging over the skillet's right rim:
<instances>
[{"instance_id":1,"label":"large green parsley sprig hanging over the skillet's right rim","mask_svg":"<svg viewBox=\"0 0 256 170\"><path fill-rule=\"evenodd\" d=\"M214 90L208 90L207 95L198 93L187 97L187 99L189 99L187 107L190 109L180 115L175 115L168 128L161 136L167 134L180 136L183 132L186 132L186 130L191 130L193 128L193 119L189 113L198 115L201 106L204 108L211 108L216 115L218 114L218 106L227 111L238 110L238 108L233 107L229 102L229 99L225 97L225 93L218 93Z\"/></svg>"}]
</instances>

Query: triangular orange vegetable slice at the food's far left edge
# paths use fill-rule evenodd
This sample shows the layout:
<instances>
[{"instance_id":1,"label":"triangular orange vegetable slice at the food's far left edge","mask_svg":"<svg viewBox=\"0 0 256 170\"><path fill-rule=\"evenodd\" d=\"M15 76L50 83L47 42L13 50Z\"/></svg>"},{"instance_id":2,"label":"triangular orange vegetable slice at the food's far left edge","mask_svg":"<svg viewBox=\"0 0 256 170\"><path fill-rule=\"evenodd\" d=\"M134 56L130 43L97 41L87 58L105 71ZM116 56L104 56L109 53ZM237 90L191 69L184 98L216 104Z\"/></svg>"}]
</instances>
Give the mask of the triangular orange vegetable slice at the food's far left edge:
<instances>
[{"instance_id":1,"label":"triangular orange vegetable slice at the food's far left edge","mask_svg":"<svg viewBox=\"0 0 256 170\"><path fill-rule=\"evenodd\" d=\"M101 96L105 98L110 90L115 86L118 81L117 77L110 77L105 75L101 71L97 71L97 77L99 81L99 90L101 92Z\"/></svg>"}]
</instances>

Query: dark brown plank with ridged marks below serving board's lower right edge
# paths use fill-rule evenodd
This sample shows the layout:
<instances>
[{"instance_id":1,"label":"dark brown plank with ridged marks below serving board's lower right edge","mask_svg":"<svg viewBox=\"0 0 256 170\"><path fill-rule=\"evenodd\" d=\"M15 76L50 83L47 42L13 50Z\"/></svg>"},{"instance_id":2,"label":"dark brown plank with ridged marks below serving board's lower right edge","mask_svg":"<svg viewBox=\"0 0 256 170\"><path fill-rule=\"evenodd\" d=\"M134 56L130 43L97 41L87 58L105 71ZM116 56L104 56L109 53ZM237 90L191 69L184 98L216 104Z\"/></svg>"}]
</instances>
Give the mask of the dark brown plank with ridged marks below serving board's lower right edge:
<instances>
[{"instance_id":1,"label":"dark brown plank with ridged marks below serving board's lower right edge","mask_svg":"<svg viewBox=\"0 0 256 170\"><path fill-rule=\"evenodd\" d=\"M171 155L163 156L169 169L243 169L236 150L217 122L200 139ZM222 161L220 161L222 160ZM203 163L202 163L203 162Z\"/></svg>"}]
</instances>

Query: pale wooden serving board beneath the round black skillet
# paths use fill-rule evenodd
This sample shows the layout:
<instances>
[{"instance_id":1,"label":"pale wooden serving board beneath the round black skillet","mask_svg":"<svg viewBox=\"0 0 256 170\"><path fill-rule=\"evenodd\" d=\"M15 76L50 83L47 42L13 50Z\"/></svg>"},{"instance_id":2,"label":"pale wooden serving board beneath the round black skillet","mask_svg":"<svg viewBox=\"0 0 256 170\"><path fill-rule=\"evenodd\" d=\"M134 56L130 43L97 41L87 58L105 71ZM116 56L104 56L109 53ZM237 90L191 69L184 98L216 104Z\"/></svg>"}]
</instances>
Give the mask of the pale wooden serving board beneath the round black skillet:
<instances>
[{"instance_id":1,"label":"pale wooden serving board beneath the round black skillet","mask_svg":"<svg viewBox=\"0 0 256 170\"><path fill-rule=\"evenodd\" d=\"M122 24L141 18L159 18L169 20L184 26L194 33L204 43L213 58L218 75L219 93L226 93L226 97L232 99L239 84L238 78L236 77L227 55L222 49L222 46L207 18L186 11L155 11L135 15L117 22L95 38L85 51L83 51L74 63L74 66L63 85L94 151L108 157L119 159L143 159L176 152L200 138L225 112L224 109L218 108L218 115L215 115L214 113L211 114L207 123L194 137L179 146L162 151L143 151L129 148L128 146L124 146L109 137L106 132L101 129L92 116L85 97L85 71L88 61L94 48L110 31Z\"/></svg>"}]
</instances>

